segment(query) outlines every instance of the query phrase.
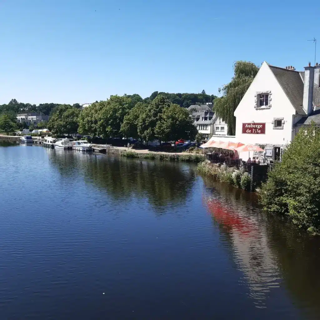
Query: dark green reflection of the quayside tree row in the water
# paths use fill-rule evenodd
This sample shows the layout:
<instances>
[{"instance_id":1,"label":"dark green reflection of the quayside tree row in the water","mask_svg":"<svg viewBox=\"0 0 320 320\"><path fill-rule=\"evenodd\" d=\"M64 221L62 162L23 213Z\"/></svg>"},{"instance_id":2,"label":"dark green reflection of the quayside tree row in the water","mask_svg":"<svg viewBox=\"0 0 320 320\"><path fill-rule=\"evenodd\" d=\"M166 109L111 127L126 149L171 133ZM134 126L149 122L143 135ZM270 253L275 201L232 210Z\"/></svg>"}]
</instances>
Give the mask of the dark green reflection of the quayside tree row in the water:
<instances>
[{"instance_id":1,"label":"dark green reflection of the quayside tree row in the water","mask_svg":"<svg viewBox=\"0 0 320 320\"><path fill-rule=\"evenodd\" d=\"M118 156L46 150L62 176L81 176L116 200L147 198L158 212L166 211L166 205L185 202L196 177L192 166L184 163L128 158L119 161Z\"/></svg>"}]
</instances>

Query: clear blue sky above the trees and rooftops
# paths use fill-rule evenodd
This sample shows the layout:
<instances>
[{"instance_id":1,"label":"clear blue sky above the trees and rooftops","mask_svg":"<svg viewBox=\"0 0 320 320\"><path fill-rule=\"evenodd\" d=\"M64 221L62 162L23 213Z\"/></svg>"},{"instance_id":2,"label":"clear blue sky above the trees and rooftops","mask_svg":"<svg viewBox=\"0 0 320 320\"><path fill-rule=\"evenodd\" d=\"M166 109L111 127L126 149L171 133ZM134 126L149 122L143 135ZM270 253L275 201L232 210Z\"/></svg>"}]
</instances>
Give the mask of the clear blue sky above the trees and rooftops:
<instances>
[{"instance_id":1,"label":"clear blue sky above the trees and rooftops","mask_svg":"<svg viewBox=\"0 0 320 320\"><path fill-rule=\"evenodd\" d=\"M0 0L0 104L218 94L236 60L314 63L318 2Z\"/></svg>"}]
</instances>

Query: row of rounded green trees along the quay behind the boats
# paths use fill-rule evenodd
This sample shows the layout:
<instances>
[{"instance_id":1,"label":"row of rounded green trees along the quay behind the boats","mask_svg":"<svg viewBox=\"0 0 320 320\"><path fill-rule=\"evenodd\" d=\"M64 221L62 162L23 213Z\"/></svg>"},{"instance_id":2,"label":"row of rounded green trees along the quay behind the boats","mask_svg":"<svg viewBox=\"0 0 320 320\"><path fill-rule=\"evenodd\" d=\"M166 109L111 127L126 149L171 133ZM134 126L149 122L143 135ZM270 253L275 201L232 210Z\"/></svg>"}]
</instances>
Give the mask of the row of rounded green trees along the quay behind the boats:
<instances>
[{"instance_id":1,"label":"row of rounded green trees along the quay behind the boats","mask_svg":"<svg viewBox=\"0 0 320 320\"><path fill-rule=\"evenodd\" d=\"M79 110L60 105L48 123L53 134L80 133L102 138L137 138L143 141L194 139L197 133L186 108L158 94L143 102L128 95L110 96Z\"/></svg>"}]
</instances>

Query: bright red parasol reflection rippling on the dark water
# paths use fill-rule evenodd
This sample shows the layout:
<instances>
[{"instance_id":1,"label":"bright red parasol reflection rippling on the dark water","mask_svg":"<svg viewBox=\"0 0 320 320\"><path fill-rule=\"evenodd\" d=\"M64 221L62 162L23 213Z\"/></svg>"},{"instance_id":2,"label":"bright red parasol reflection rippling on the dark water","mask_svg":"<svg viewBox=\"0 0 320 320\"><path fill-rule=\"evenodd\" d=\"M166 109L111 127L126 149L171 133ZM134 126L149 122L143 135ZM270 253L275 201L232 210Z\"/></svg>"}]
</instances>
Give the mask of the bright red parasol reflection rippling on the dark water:
<instances>
[{"instance_id":1,"label":"bright red parasol reflection rippling on the dark water","mask_svg":"<svg viewBox=\"0 0 320 320\"><path fill-rule=\"evenodd\" d=\"M228 208L217 199L207 200L207 206L214 219L230 232L237 231L241 235L252 237L258 231L252 219Z\"/></svg>"}]
</instances>

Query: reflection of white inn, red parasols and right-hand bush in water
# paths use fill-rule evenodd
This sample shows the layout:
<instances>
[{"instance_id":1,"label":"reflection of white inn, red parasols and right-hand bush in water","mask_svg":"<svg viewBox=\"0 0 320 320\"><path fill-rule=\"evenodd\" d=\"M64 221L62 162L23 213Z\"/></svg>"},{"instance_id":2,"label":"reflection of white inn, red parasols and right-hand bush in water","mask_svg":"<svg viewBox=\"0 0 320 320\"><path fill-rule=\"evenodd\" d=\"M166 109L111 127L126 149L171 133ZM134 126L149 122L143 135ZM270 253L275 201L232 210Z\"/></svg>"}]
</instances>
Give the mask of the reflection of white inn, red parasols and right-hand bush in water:
<instances>
[{"instance_id":1,"label":"reflection of white inn, red parasols and right-hand bush in water","mask_svg":"<svg viewBox=\"0 0 320 320\"><path fill-rule=\"evenodd\" d=\"M262 212L258 195L205 180L203 198L214 223L228 236L234 261L243 272L250 297L268 307L271 292L283 287L309 316L320 311L320 239ZM240 280L241 282L241 280Z\"/></svg>"}]
</instances>

